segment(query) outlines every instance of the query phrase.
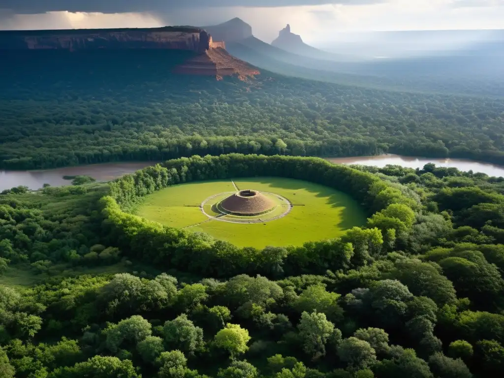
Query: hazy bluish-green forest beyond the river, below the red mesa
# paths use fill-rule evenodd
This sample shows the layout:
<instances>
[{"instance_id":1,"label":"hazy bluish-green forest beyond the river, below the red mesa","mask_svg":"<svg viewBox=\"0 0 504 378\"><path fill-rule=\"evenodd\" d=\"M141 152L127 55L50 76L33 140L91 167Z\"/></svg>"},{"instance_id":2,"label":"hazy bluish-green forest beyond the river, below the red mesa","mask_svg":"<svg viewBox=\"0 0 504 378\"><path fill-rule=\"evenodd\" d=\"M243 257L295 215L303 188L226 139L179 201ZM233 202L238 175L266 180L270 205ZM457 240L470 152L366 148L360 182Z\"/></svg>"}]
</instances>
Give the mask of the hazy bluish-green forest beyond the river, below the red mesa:
<instances>
[{"instance_id":1,"label":"hazy bluish-green forest beyond the river, below the red mesa","mask_svg":"<svg viewBox=\"0 0 504 378\"><path fill-rule=\"evenodd\" d=\"M289 78L175 76L183 54L10 53L0 61L0 168L230 152L384 152L504 163L504 102ZM163 62L163 64L159 64Z\"/></svg>"}]
</instances>

